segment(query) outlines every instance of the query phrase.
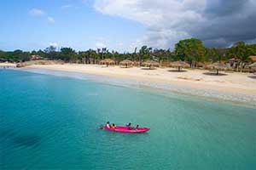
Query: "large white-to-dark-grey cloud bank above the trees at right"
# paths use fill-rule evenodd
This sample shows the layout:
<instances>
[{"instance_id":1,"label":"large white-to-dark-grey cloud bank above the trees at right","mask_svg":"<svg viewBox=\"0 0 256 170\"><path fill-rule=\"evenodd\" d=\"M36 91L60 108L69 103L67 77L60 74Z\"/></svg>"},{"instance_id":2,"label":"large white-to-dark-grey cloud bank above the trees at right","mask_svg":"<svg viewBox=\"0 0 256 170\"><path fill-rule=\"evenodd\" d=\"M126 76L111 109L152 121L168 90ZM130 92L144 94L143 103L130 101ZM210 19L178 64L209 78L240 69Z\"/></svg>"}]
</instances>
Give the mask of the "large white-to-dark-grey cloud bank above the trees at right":
<instances>
[{"instance_id":1,"label":"large white-to-dark-grey cloud bank above the trees at right","mask_svg":"<svg viewBox=\"0 0 256 170\"><path fill-rule=\"evenodd\" d=\"M208 47L256 38L254 0L96 0L96 11L146 26L140 41L173 48L183 38L201 38Z\"/></svg>"}]
</instances>

